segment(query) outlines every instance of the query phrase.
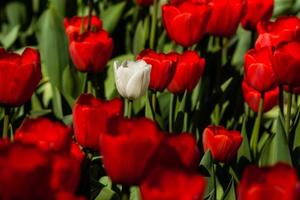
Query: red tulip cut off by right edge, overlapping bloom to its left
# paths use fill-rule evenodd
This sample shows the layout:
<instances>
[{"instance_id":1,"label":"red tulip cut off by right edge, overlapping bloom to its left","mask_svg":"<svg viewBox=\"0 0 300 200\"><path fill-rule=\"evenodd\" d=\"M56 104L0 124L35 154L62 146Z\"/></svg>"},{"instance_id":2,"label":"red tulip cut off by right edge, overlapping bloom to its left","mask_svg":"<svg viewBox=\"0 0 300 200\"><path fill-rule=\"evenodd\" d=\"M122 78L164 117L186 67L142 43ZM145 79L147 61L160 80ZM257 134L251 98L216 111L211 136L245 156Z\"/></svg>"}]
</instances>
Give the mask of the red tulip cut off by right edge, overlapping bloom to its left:
<instances>
[{"instance_id":1,"label":"red tulip cut off by right edge, overlapping bloom to its left","mask_svg":"<svg viewBox=\"0 0 300 200\"><path fill-rule=\"evenodd\" d=\"M278 47L274 52L273 67L282 84L300 86L300 42L290 42Z\"/></svg>"}]
</instances>

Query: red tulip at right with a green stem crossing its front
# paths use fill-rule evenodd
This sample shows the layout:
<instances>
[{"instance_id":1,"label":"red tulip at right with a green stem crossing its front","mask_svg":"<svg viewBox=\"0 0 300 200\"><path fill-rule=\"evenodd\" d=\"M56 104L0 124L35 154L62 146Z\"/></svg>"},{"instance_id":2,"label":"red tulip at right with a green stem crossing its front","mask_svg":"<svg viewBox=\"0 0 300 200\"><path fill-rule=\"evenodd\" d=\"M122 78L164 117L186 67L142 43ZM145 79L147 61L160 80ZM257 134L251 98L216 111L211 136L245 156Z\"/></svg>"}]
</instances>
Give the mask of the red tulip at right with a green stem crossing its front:
<instances>
[{"instance_id":1,"label":"red tulip at right with a green stem crossing its front","mask_svg":"<svg viewBox=\"0 0 300 200\"><path fill-rule=\"evenodd\" d=\"M261 92L250 87L244 80L242 83L243 95L246 103L254 112L258 112L259 101L261 98ZM271 110L274 106L278 104L279 88L276 87L264 94L264 105L263 112Z\"/></svg>"}]
</instances>

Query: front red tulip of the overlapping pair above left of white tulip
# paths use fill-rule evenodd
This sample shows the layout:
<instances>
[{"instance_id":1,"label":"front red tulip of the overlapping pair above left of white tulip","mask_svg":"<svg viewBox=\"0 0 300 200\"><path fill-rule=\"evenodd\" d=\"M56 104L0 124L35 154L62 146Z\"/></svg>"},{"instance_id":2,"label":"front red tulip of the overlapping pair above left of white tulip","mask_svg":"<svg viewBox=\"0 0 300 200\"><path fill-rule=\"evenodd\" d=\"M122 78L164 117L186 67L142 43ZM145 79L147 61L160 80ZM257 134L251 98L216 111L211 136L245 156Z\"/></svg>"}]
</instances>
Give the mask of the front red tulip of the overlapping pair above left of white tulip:
<instances>
[{"instance_id":1,"label":"front red tulip of the overlapping pair above left of white tulip","mask_svg":"<svg viewBox=\"0 0 300 200\"><path fill-rule=\"evenodd\" d=\"M113 50L113 41L104 30L88 31L69 41L69 52L77 70L101 72Z\"/></svg>"}]
</instances>

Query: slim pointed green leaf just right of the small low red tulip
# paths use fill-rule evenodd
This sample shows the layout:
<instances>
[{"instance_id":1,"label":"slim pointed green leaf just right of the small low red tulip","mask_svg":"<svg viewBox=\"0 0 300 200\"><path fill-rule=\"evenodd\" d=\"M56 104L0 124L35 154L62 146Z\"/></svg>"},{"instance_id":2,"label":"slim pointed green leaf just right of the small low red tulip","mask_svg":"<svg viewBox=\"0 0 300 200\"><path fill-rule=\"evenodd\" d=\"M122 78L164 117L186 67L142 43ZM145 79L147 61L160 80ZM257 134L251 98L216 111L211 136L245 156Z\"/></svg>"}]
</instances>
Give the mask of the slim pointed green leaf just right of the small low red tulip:
<instances>
[{"instance_id":1,"label":"slim pointed green leaf just right of the small low red tulip","mask_svg":"<svg viewBox=\"0 0 300 200\"><path fill-rule=\"evenodd\" d=\"M249 146L249 140L247 136L247 130L246 130L246 123L247 123L247 117L244 117L243 125L242 125L242 130L241 130L241 135L243 137L243 142L238 150L237 153L237 158L238 161L240 162L240 159L242 157L245 157L248 161L251 161L251 153L250 153L250 146Z\"/></svg>"}]
</instances>

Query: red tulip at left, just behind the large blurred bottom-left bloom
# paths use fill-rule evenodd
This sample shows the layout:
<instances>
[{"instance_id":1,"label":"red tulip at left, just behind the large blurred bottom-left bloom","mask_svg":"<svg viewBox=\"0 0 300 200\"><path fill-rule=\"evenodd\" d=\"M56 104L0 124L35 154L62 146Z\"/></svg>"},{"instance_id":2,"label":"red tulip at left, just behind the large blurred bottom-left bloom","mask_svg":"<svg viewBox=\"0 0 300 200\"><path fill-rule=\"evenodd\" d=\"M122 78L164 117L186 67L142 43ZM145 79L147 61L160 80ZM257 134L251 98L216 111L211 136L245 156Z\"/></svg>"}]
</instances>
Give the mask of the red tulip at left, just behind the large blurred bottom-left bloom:
<instances>
[{"instance_id":1,"label":"red tulip at left, just behind the large blurred bottom-left bloom","mask_svg":"<svg viewBox=\"0 0 300 200\"><path fill-rule=\"evenodd\" d=\"M16 130L15 140L35 144L46 152L69 152L71 128L43 117L27 118Z\"/></svg>"}]
</instances>

